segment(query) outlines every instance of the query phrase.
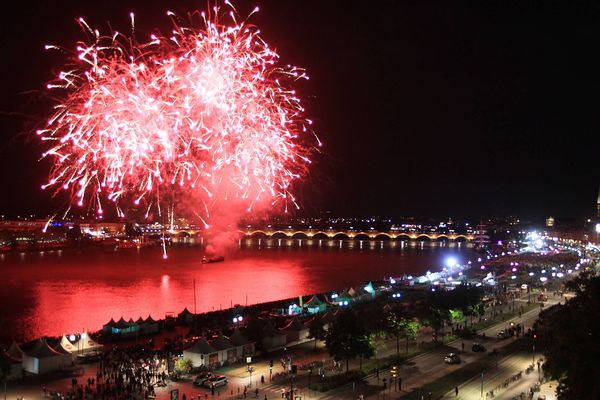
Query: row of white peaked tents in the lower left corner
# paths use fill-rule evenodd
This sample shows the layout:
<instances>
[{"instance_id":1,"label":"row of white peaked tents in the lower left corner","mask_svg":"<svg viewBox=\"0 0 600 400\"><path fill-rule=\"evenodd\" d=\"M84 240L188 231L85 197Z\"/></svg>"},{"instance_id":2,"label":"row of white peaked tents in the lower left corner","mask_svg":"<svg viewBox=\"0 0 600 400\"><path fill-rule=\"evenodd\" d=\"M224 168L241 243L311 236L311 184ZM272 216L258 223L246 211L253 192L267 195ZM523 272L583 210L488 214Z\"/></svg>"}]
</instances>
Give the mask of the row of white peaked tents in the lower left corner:
<instances>
[{"instance_id":1,"label":"row of white peaked tents in the lower left corner","mask_svg":"<svg viewBox=\"0 0 600 400\"><path fill-rule=\"evenodd\" d=\"M71 343L63 335L55 346L50 346L46 339L41 338L30 345L29 350L23 350L13 342L7 351L0 352L0 357L10 364L9 379L19 379L25 373L43 375L71 367L76 354L98 351L101 348L102 345L87 334L82 334L75 343Z\"/></svg>"}]
</instances>

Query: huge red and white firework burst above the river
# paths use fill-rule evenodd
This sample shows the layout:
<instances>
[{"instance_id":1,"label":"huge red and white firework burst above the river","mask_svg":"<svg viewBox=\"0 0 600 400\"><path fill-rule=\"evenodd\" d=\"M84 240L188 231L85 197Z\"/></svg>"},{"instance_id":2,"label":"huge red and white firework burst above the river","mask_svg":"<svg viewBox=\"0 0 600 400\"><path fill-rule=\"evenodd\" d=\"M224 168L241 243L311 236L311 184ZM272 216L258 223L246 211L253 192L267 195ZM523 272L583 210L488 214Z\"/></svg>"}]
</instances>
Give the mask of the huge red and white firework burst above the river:
<instances>
[{"instance_id":1,"label":"huge red and white firework burst above the river","mask_svg":"<svg viewBox=\"0 0 600 400\"><path fill-rule=\"evenodd\" d=\"M73 65L48 85L61 101L38 131L53 160L43 188L99 214L112 202L119 215L140 203L160 210L161 193L194 193L207 226L215 202L297 206L289 190L310 164L312 131L290 87L308 77L279 66L229 3L209 11L187 25L168 12L172 34L146 43L79 20L90 43L78 43Z\"/></svg>"}]
</instances>

